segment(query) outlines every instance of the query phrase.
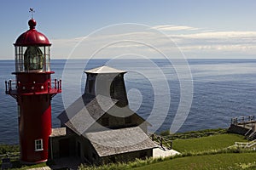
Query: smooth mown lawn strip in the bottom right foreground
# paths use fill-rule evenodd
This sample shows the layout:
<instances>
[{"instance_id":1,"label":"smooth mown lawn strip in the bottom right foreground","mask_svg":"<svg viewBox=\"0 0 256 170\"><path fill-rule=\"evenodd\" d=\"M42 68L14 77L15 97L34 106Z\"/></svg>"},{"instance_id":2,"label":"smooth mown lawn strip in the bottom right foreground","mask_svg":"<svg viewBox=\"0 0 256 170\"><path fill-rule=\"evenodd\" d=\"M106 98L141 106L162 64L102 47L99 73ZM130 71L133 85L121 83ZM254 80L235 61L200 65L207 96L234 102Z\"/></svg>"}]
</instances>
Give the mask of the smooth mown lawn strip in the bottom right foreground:
<instances>
[{"instance_id":1,"label":"smooth mown lawn strip in the bottom right foreground","mask_svg":"<svg viewBox=\"0 0 256 170\"><path fill-rule=\"evenodd\" d=\"M188 156L168 161L161 161L143 167L133 168L136 170L154 169L241 169L241 163L256 161L256 153L240 154L217 154L210 156ZM256 169L256 167L251 168Z\"/></svg>"}]
</instances>

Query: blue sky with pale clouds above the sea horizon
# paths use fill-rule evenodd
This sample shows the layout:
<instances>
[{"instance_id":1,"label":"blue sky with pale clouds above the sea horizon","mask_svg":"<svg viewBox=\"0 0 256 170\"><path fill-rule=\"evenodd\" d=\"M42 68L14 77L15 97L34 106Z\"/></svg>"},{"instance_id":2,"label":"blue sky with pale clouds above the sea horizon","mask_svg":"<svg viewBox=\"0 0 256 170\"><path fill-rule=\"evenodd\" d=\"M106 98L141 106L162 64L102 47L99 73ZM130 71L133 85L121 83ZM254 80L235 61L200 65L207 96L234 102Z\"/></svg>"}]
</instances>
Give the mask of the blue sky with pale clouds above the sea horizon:
<instances>
[{"instance_id":1,"label":"blue sky with pale clouds above the sea horizon","mask_svg":"<svg viewBox=\"0 0 256 170\"><path fill-rule=\"evenodd\" d=\"M29 8L36 29L52 43L52 59L90 58L99 51L99 58L154 58L157 49L168 57L174 47L188 59L256 54L254 0L5 0L0 59L14 59L13 43L28 30Z\"/></svg>"}]
</instances>

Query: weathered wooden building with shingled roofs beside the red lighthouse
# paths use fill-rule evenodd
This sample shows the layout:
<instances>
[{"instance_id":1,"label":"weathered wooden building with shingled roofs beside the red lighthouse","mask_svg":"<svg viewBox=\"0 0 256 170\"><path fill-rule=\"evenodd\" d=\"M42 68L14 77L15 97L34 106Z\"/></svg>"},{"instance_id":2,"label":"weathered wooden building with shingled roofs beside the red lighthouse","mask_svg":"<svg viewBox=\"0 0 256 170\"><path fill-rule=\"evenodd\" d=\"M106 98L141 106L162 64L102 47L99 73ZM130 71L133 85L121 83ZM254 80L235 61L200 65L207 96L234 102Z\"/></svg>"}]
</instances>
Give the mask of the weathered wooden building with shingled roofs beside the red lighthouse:
<instances>
[{"instance_id":1,"label":"weathered wooden building with shingled roofs beside the red lighthouse","mask_svg":"<svg viewBox=\"0 0 256 170\"><path fill-rule=\"evenodd\" d=\"M50 157L101 164L152 156L149 123L128 105L125 71L103 65L84 72L84 94L58 116L61 128L50 136Z\"/></svg>"}]
</instances>

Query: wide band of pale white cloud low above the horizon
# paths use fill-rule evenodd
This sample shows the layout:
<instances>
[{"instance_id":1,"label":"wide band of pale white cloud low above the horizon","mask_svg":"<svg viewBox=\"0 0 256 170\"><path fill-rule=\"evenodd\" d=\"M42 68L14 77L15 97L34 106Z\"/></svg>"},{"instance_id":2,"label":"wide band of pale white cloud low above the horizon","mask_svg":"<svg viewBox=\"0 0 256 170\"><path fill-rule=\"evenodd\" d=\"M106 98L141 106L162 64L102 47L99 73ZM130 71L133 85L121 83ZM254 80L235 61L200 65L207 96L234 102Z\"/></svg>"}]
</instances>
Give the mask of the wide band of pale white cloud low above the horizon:
<instances>
[{"instance_id":1,"label":"wide band of pale white cloud low above the horizon","mask_svg":"<svg viewBox=\"0 0 256 170\"><path fill-rule=\"evenodd\" d=\"M143 30L123 29L101 31L89 37L55 39L52 40L52 51L56 58L67 58L78 42L84 40L74 52L78 58L89 58L98 50L102 58L125 53L145 54L154 58L157 56L155 48L172 51L176 44L187 58L193 54L193 58L226 57L225 54L252 57L256 54L256 31L206 31L192 26L174 25L153 26ZM161 34L159 31L167 32ZM170 37L176 44L170 43Z\"/></svg>"}]
</instances>

